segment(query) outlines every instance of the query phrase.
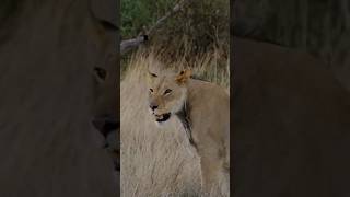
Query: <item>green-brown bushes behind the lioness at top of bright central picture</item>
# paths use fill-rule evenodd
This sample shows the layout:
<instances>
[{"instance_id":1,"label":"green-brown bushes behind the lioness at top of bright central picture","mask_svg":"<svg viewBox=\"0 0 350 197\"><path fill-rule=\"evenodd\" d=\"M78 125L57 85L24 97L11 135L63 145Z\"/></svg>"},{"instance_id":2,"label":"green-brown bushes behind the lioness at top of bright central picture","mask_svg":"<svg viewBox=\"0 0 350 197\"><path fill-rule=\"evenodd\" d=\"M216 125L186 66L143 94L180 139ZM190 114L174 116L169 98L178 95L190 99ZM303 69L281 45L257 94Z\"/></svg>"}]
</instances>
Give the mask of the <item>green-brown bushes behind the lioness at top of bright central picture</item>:
<instances>
[{"instance_id":1,"label":"green-brown bushes behind the lioness at top of bright central picture","mask_svg":"<svg viewBox=\"0 0 350 197\"><path fill-rule=\"evenodd\" d=\"M160 18L170 12L177 1L122 0L121 36L136 37L149 30ZM176 15L168 18L151 36L153 47L165 48L174 56L176 51L203 53L229 44L228 0L189 0ZM155 44L156 43L156 44ZM191 45L188 49L186 46ZM186 49L185 49L186 48ZM228 51L228 47L225 48ZM191 54L191 53L188 53ZM183 54L178 54L182 56Z\"/></svg>"}]
</instances>

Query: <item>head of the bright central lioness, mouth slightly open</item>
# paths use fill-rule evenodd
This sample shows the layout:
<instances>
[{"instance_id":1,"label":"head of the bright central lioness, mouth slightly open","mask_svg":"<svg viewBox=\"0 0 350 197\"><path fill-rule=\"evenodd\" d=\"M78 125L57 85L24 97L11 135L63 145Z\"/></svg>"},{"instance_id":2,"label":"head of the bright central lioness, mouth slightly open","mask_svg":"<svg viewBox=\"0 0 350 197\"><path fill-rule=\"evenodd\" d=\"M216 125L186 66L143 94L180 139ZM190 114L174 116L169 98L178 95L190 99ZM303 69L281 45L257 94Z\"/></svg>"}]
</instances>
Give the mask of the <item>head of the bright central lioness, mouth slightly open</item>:
<instances>
[{"instance_id":1,"label":"head of the bright central lioness, mouth slightly open","mask_svg":"<svg viewBox=\"0 0 350 197\"><path fill-rule=\"evenodd\" d=\"M186 83L190 78L190 70L178 73L170 70L148 71L148 104L150 113L158 125L167 121L182 109L186 97Z\"/></svg>"}]
</instances>

